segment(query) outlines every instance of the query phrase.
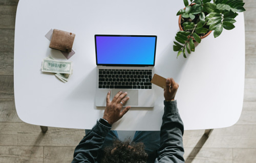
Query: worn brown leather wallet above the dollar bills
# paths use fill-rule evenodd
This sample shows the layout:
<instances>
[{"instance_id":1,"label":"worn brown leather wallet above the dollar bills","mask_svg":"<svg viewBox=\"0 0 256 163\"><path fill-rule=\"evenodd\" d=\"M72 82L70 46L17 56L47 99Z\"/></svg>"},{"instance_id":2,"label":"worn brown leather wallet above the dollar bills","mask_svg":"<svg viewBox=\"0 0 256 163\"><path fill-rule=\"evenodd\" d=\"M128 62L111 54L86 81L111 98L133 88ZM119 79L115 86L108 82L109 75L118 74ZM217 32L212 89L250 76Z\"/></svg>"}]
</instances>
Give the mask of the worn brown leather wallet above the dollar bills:
<instances>
[{"instance_id":1,"label":"worn brown leather wallet above the dollar bills","mask_svg":"<svg viewBox=\"0 0 256 163\"><path fill-rule=\"evenodd\" d=\"M76 35L73 33L54 29L49 47L61 51L71 52L75 36Z\"/></svg>"}]
</instances>

